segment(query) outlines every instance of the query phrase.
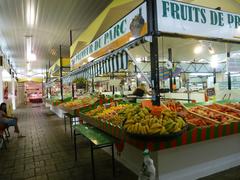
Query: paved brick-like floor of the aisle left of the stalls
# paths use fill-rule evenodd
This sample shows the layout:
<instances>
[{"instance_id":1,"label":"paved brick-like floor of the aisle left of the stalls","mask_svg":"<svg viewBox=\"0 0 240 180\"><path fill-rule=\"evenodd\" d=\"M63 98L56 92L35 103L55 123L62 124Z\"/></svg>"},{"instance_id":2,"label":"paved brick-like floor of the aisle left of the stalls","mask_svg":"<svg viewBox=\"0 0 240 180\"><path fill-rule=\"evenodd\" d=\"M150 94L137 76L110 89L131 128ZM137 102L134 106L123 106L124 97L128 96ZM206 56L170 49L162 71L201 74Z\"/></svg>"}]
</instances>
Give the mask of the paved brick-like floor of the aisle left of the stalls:
<instances>
[{"instance_id":1,"label":"paved brick-like floor of the aisle left of the stalls","mask_svg":"<svg viewBox=\"0 0 240 180\"><path fill-rule=\"evenodd\" d=\"M16 114L26 138L11 137L8 150L0 150L0 180L92 179L88 142L79 138L79 160L75 162L70 133L64 133L62 120L40 105L19 109ZM119 163L113 178L111 157L102 150L94 154L97 180L137 179Z\"/></svg>"}]
</instances>

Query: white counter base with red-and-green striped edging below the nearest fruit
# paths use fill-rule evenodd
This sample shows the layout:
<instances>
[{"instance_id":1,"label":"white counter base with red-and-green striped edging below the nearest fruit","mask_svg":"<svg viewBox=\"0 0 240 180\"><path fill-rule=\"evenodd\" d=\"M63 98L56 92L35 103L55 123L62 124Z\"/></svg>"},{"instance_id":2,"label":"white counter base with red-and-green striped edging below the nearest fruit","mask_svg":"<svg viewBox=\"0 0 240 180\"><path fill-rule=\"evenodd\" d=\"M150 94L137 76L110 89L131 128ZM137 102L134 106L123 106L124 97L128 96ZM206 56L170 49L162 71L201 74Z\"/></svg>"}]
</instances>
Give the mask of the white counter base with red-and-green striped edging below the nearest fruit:
<instances>
[{"instance_id":1,"label":"white counter base with red-and-green striped edging below the nearest fruit","mask_svg":"<svg viewBox=\"0 0 240 180\"><path fill-rule=\"evenodd\" d=\"M86 116L84 113L80 113L79 117L114 137L117 146L120 145L120 150L117 148L121 152L118 160L135 173L138 172L138 165L142 161L141 152L146 148L151 151L159 178L163 179L193 179L233 166L239 160L239 158L236 159L240 148L239 122L208 127L189 127L180 136L166 139L132 136L125 133L121 127ZM222 148L224 144L232 146L225 149ZM174 162L177 170L172 169L174 160L172 158L177 158L176 154L189 157L187 163L185 158ZM223 159L226 162L222 162ZM203 169L206 164L212 166L208 169L211 172L206 168Z\"/></svg>"}]
</instances>

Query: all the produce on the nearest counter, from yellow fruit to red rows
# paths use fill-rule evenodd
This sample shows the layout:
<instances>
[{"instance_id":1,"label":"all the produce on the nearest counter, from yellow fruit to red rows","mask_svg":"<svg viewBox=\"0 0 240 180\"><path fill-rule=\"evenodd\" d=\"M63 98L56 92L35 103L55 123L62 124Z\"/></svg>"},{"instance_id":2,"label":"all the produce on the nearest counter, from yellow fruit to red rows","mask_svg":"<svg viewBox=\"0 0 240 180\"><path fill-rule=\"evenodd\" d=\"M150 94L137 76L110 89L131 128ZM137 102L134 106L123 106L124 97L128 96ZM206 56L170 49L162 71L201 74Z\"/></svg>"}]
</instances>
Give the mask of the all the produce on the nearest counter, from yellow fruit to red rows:
<instances>
[{"instance_id":1,"label":"all the produce on the nearest counter, from yellow fruit to red rows","mask_svg":"<svg viewBox=\"0 0 240 180\"><path fill-rule=\"evenodd\" d=\"M237 109L239 108L239 110ZM175 101L161 106L151 103L98 106L86 113L96 120L122 127L125 132L140 136L169 136L182 132L191 124L200 128L240 121L240 104L195 105L188 108Z\"/></svg>"}]
</instances>

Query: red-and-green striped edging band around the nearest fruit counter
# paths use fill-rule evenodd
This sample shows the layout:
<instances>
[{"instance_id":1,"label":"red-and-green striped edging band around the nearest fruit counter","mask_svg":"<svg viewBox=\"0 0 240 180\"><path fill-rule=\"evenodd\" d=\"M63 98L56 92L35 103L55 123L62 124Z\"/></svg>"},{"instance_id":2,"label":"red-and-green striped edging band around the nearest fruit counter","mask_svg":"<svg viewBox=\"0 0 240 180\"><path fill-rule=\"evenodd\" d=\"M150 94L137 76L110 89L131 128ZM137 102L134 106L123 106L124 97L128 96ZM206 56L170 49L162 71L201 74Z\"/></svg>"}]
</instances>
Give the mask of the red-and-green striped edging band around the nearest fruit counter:
<instances>
[{"instance_id":1,"label":"red-and-green striped edging band around the nearest fruit counter","mask_svg":"<svg viewBox=\"0 0 240 180\"><path fill-rule=\"evenodd\" d=\"M100 130L110 134L119 141L129 143L140 150L148 148L150 151L159 151L166 148L174 148L186 144L193 144L201 141L228 136L231 134L237 134L240 132L240 123L236 122L227 125L190 128L182 135L168 140L162 140L159 138L145 139L130 136L118 126L114 126L101 120L93 119L92 117L86 116L83 113L80 113L80 118L82 118L87 123L99 128Z\"/></svg>"}]
</instances>

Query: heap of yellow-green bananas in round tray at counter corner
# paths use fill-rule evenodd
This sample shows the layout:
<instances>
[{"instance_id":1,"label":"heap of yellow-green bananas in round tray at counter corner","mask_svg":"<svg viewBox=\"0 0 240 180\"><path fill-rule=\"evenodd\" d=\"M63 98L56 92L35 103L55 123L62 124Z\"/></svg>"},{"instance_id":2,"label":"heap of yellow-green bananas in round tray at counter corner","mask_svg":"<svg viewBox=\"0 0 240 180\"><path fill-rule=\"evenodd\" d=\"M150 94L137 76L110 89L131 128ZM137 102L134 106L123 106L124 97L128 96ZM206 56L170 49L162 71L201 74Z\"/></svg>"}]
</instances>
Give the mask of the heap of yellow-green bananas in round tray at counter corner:
<instances>
[{"instance_id":1,"label":"heap of yellow-green bananas in round tray at counter corner","mask_svg":"<svg viewBox=\"0 0 240 180\"><path fill-rule=\"evenodd\" d=\"M148 108L133 106L119 114L125 118L123 128L126 132L135 135L168 135L178 133L186 126L182 117L169 110L154 116Z\"/></svg>"}]
</instances>

